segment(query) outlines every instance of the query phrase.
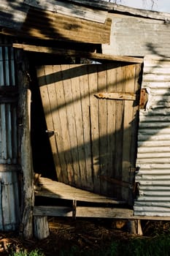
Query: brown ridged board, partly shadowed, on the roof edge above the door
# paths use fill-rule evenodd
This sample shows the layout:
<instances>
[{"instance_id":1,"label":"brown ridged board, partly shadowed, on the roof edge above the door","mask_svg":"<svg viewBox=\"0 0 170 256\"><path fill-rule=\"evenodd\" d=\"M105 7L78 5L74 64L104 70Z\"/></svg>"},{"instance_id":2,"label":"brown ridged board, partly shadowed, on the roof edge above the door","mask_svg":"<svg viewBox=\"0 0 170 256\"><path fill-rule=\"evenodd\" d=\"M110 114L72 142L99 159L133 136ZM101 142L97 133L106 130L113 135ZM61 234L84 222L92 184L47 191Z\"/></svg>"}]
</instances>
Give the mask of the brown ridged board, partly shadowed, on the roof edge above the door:
<instances>
[{"instance_id":1,"label":"brown ridged board, partly shadowed, on the roof edge above the door","mask_svg":"<svg viewBox=\"0 0 170 256\"><path fill-rule=\"evenodd\" d=\"M108 44L111 23L110 18L107 18L105 23L98 23L31 7L20 29L17 31L4 29L4 33L6 31L18 36L22 34L23 37L45 40Z\"/></svg>"}]
</instances>

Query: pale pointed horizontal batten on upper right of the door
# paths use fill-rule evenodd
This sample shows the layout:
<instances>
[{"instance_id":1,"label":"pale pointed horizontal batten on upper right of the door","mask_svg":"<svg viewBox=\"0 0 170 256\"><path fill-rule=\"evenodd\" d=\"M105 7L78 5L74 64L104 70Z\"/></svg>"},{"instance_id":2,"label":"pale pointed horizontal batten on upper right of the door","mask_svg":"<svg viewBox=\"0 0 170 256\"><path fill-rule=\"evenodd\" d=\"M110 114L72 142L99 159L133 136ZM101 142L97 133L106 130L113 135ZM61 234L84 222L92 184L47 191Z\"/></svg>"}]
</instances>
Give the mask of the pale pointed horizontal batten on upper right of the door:
<instances>
[{"instance_id":1,"label":"pale pointed horizontal batten on upper right of the door","mask_svg":"<svg viewBox=\"0 0 170 256\"><path fill-rule=\"evenodd\" d=\"M100 92L98 94L94 94L98 99L121 99L121 100L135 100L136 94L132 93L117 93L117 92Z\"/></svg>"}]
</instances>

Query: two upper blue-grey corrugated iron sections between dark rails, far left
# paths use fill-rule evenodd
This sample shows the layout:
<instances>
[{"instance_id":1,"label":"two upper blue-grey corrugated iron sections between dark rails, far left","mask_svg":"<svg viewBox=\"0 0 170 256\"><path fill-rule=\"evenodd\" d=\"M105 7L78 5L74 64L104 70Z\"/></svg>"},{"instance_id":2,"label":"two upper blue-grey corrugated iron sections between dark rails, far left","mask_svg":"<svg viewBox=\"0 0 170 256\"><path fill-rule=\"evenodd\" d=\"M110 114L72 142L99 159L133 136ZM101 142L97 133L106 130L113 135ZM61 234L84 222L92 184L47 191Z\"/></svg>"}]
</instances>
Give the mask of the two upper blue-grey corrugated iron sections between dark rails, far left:
<instances>
[{"instance_id":1,"label":"two upper blue-grey corrugated iron sections between dark rails, far left","mask_svg":"<svg viewBox=\"0 0 170 256\"><path fill-rule=\"evenodd\" d=\"M0 47L0 86L16 86L14 50ZM0 164L17 161L17 110L14 103L0 104Z\"/></svg>"}]
</instances>

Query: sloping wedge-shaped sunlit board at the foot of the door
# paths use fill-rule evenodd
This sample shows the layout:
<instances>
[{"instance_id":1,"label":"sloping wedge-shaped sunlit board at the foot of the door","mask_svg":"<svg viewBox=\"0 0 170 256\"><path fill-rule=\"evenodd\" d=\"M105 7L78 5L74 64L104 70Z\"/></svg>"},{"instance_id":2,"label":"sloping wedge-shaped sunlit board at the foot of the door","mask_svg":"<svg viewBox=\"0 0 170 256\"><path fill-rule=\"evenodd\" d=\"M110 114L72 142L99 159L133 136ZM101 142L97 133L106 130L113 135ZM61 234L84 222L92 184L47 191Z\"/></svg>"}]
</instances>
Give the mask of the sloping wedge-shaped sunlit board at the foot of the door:
<instances>
[{"instance_id":1,"label":"sloping wedge-shaped sunlit board at the foot of the door","mask_svg":"<svg viewBox=\"0 0 170 256\"><path fill-rule=\"evenodd\" d=\"M77 200L91 203L123 204L123 200L115 200L112 197L98 195L83 189L71 187L62 182L53 181L50 178L39 178L39 187L35 190L36 196L52 197L57 199Z\"/></svg>"}]
</instances>

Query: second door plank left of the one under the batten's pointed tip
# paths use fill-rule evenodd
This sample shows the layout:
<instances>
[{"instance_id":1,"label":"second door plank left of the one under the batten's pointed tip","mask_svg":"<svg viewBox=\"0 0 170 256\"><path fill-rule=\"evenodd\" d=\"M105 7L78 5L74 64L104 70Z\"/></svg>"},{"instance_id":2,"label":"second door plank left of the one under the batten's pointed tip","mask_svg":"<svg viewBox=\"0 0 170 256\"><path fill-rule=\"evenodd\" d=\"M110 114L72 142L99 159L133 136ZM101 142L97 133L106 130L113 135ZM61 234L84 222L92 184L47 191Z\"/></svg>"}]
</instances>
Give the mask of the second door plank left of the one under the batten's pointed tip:
<instances>
[{"instance_id":1,"label":"second door plank left of the one under the batten's pointed tip","mask_svg":"<svg viewBox=\"0 0 170 256\"><path fill-rule=\"evenodd\" d=\"M93 189L92 168L91 168L91 148L90 148L90 89L88 84L88 65L82 66L80 77L80 94L82 104L83 138L85 150L85 175L82 176L82 186L85 189Z\"/></svg>"}]
</instances>

